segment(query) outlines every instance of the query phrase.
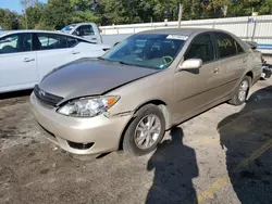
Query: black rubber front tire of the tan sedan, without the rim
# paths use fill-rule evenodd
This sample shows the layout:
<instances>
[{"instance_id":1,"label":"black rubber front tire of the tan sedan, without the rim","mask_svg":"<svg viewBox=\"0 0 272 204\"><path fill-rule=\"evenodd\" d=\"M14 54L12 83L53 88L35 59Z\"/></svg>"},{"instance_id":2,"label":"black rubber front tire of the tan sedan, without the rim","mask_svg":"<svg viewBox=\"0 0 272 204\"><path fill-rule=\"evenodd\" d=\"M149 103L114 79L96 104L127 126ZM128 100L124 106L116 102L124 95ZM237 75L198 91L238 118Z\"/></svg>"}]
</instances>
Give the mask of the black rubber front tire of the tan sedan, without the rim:
<instances>
[{"instance_id":1,"label":"black rubber front tire of the tan sedan, without the rim","mask_svg":"<svg viewBox=\"0 0 272 204\"><path fill-rule=\"evenodd\" d=\"M159 118L160 124L161 124L161 131L156 142L150 148L143 150L138 148L137 144L135 143L135 139L134 139L135 131L139 122L150 114L156 115ZM123 140L123 149L129 152L131 154L137 155L137 156L148 154L157 148L158 143L161 142L164 136L164 132L165 132L165 118L161 110L153 104L145 105L139 111L137 111L137 113L135 114L135 117L133 118L132 123L127 127L125 135L124 135L124 140Z\"/></svg>"}]
</instances>

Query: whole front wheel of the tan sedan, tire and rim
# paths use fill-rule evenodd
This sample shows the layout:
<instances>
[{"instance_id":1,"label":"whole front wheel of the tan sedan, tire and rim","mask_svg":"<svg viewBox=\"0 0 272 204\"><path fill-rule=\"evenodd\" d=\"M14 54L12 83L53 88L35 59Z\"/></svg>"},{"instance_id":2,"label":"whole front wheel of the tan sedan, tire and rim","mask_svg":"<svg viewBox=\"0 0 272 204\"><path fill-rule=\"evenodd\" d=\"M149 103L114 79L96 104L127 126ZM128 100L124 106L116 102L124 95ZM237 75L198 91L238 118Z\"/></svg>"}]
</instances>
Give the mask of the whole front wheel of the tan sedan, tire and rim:
<instances>
[{"instance_id":1,"label":"whole front wheel of the tan sedan, tire and rim","mask_svg":"<svg viewBox=\"0 0 272 204\"><path fill-rule=\"evenodd\" d=\"M148 154L162 140L164 131L165 119L161 110L152 104L145 105L126 129L123 149L134 155Z\"/></svg>"}]
</instances>

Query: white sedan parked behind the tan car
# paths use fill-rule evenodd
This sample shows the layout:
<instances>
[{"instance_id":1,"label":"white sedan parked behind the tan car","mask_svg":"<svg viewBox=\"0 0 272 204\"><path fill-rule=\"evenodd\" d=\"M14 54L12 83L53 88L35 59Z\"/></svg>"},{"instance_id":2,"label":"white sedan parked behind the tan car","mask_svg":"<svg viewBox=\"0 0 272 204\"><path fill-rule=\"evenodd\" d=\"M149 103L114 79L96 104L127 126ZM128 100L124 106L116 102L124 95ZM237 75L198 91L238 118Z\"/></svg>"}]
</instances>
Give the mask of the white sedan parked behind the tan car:
<instances>
[{"instance_id":1,"label":"white sedan parked behind the tan car","mask_svg":"<svg viewBox=\"0 0 272 204\"><path fill-rule=\"evenodd\" d=\"M0 93L30 89L53 68L82 58L98 58L109 49L54 31L1 31Z\"/></svg>"}]
</instances>

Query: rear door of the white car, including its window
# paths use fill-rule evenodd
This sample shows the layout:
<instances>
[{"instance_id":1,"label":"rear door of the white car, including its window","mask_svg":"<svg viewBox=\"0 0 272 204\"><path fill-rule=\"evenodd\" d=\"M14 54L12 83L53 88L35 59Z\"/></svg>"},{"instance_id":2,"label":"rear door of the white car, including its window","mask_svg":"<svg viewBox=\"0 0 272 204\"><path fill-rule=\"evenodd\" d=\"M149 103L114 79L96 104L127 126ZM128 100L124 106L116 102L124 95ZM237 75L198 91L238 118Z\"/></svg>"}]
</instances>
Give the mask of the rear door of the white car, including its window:
<instances>
[{"instance_id":1,"label":"rear door of the white car, including its window","mask_svg":"<svg viewBox=\"0 0 272 204\"><path fill-rule=\"evenodd\" d=\"M34 35L34 44L37 50L37 66L40 78L53 68L72 62L81 54L74 47L76 38L59 34L38 33Z\"/></svg>"}]
</instances>

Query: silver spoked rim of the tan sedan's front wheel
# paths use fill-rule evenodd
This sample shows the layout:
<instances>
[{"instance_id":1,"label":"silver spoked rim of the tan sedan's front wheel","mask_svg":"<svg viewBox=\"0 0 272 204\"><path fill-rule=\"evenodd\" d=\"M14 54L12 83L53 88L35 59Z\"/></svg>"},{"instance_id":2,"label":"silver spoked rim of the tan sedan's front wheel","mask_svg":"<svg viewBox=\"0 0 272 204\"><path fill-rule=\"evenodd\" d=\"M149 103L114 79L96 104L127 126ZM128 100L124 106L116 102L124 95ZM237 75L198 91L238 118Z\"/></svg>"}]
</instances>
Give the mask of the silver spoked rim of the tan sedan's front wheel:
<instances>
[{"instance_id":1,"label":"silver spoked rim of the tan sedan's front wheel","mask_svg":"<svg viewBox=\"0 0 272 204\"><path fill-rule=\"evenodd\" d=\"M134 140L135 144L141 149L153 145L161 132L161 122L158 116L150 114L144 117L137 125Z\"/></svg>"}]
</instances>

